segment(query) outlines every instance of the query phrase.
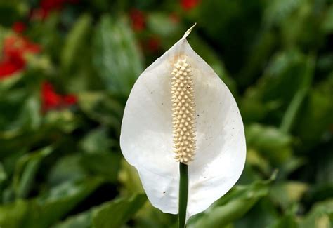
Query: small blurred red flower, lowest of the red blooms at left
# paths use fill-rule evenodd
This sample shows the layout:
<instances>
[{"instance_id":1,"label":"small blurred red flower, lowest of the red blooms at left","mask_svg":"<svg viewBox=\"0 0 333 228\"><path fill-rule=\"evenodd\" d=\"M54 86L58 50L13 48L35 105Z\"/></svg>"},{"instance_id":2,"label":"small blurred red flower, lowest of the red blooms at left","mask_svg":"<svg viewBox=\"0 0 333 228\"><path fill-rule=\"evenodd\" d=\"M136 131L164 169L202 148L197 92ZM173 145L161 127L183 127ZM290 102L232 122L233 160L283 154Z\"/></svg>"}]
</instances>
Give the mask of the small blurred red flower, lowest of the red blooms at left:
<instances>
[{"instance_id":1,"label":"small blurred red flower, lowest of the red blooms at left","mask_svg":"<svg viewBox=\"0 0 333 228\"><path fill-rule=\"evenodd\" d=\"M77 96L73 94L60 95L55 92L51 83L44 82L41 86L42 110L59 109L77 103Z\"/></svg>"}]
</instances>

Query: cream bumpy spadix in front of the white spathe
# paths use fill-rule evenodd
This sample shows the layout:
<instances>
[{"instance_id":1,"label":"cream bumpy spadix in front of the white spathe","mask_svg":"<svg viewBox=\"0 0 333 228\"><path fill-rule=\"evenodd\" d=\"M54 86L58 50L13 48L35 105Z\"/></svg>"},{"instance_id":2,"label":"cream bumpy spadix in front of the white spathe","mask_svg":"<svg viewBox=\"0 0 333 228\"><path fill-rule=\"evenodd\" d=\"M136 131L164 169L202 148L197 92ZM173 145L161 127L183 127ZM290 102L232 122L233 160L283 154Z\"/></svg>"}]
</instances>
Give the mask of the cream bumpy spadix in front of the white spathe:
<instances>
[{"instance_id":1,"label":"cream bumpy spadix in front of the white spathe","mask_svg":"<svg viewBox=\"0 0 333 228\"><path fill-rule=\"evenodd\" d=\"M195 102L193 79L186 59L174 64L171 80L175 159L188 164L195 155Z\"/></svg>"}]
</instances>

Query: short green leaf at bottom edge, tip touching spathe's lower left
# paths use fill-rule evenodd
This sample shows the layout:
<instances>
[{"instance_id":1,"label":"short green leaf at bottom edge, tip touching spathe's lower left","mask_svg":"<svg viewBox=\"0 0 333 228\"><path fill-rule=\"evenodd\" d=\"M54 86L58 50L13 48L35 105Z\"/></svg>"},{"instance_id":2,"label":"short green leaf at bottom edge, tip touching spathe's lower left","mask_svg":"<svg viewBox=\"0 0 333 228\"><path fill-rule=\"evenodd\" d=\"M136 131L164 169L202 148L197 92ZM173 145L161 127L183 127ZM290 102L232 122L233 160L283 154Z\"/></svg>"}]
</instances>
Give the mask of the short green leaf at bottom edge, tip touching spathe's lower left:
<instances>
[{"instance_id":1,"label":"short green leaf at bottom edge, tip touching spathe's lower left","mask_svg":"<svg viewBox=\"0 0 333 228\"><path fill-rule=\"evenodd\" d=\"M143 206L146 201L144 194L122 198L109 203L93 212L93 227L121 227ZM111 216L111 217L110 217Z\"/></svg>"}]
</instances>

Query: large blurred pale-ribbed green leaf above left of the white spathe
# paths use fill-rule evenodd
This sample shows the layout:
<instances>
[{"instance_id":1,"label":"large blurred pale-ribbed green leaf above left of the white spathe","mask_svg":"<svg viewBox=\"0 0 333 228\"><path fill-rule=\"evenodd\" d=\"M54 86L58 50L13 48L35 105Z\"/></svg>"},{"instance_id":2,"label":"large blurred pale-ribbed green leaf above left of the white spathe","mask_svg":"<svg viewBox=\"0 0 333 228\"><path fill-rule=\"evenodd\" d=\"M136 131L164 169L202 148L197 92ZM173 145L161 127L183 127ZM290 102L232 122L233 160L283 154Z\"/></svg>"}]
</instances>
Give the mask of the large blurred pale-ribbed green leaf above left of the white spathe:
<instances>
[{"instance_id":1,"label":"large blurred pale-ribbed green leaf above left of the white spathe","mask_svg":"<svg viewBox=\"0 0 333 228\"><path fill-rule=\"evenodd\" d=\"M124 18L105 15L93 37L93 64L105 88L128 95L143 71L141 55L131 29Z\"/></svg>"}]
</instances>

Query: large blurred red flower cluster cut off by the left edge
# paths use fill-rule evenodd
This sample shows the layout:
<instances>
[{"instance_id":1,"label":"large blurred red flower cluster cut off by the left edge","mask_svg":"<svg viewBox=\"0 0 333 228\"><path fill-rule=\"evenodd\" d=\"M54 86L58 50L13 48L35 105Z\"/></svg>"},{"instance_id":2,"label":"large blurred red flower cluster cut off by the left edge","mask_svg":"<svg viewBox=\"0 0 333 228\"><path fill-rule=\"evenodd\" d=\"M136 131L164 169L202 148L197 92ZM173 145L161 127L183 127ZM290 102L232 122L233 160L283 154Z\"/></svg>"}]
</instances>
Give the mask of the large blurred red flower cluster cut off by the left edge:
<instances>
[{"instance_id":1,"label":"large blurred red flower cluster cut off by the left edge","mask_svg":"<svg viewBox=\"0 0 333 228\"><path fill-rule=\"evenodd\" d=\"M0 59L0 79L19 72L25 67L26 53L39 53L40 47L22 36L9 36L4 40L4 50Z\"/></svg>"}]
</instances>

